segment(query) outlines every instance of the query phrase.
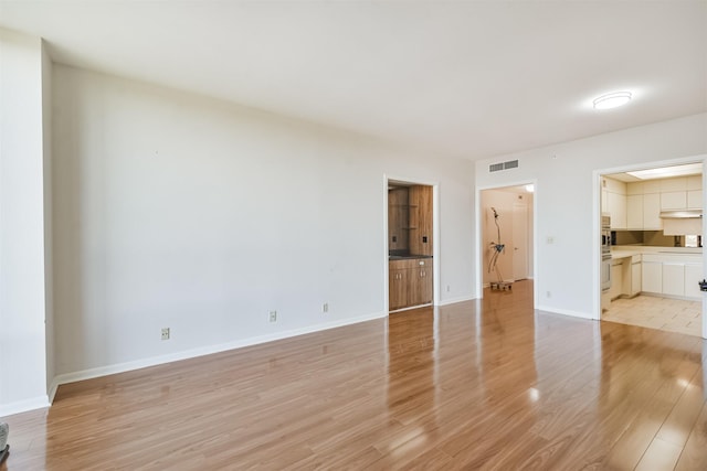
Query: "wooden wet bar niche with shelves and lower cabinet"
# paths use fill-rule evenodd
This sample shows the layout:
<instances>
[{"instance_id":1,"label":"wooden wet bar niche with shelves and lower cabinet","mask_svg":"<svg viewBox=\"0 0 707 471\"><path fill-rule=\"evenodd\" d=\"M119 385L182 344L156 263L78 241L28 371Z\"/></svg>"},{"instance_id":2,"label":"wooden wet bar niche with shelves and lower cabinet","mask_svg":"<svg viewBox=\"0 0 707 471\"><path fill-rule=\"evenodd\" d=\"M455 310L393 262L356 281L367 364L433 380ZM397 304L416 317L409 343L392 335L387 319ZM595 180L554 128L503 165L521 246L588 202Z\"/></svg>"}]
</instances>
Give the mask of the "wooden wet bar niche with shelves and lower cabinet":
<instances>
[{"instance_id":1,"label":"wooden wet bar niche with shelves and lower cabinet","mask_svg":"<svg viewBox=\"0 0 707 471\"><path fill-rule=\"evenodd\" d=\"M432 304L432 186L388 185L389 311Z\"/></svg>"}]
</instances>

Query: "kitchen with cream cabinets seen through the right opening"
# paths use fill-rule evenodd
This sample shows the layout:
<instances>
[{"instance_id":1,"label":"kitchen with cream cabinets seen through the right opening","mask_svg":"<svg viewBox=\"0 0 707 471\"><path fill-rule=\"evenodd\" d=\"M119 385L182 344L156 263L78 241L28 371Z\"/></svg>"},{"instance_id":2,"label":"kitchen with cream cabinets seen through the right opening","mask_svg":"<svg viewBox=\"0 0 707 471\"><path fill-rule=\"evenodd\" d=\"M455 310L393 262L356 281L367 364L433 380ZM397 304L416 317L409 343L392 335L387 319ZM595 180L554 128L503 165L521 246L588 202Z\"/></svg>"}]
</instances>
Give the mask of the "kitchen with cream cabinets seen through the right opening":
<instances>
[{"instance_id":1,"label":"kitchen with cream cabinets seen through the right opening","mask_svg":"<svg viewBox=\"0 0 707 471\"><path fill-rule=\"evenodd\" d=\"M602 320L701 335L701 173L602 175Z\"/></svg>"}]
</instances>

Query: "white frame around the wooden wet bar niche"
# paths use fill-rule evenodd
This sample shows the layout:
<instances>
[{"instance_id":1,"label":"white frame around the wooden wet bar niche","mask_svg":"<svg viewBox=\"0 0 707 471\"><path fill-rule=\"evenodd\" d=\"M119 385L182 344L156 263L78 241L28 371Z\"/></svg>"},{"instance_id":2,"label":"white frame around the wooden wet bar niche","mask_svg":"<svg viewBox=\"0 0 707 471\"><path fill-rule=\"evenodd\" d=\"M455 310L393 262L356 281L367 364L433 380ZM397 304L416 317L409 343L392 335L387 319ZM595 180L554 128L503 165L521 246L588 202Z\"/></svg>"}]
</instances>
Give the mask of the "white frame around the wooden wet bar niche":
<instances>
[{"instance_id":1,"label":"white frame around the wooden wet bar niche","mask_svg":"<svg viewBox=\"0 0 707 471\"><path fill-rule=\"evenodd\" d=\"M388 186L393 183L432 186L432 306L440 304L440 184L435 181L383 173L383 312L390 314L388 258Z\"/></svg>"}]
</instances>

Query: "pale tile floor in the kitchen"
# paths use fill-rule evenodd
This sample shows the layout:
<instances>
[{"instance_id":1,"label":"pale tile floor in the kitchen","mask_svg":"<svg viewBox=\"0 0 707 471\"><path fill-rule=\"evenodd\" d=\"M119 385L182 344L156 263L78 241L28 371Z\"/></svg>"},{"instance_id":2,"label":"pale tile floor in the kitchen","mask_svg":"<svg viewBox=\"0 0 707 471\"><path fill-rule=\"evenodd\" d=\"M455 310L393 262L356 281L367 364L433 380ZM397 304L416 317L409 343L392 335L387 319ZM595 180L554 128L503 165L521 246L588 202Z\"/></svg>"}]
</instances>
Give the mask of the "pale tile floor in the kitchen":
<instances>
[{"instance_id":1,"label":"pale tile floor in the kitchen","mask_svg":"<svg viewBox=\"0 0 707 471\"><path fill-rule=\"evenodd\" d=\"M611 301L602 321L641 325L651 329L701 335L701 302L636 296Z\"/></svg>"}]
</instances>

